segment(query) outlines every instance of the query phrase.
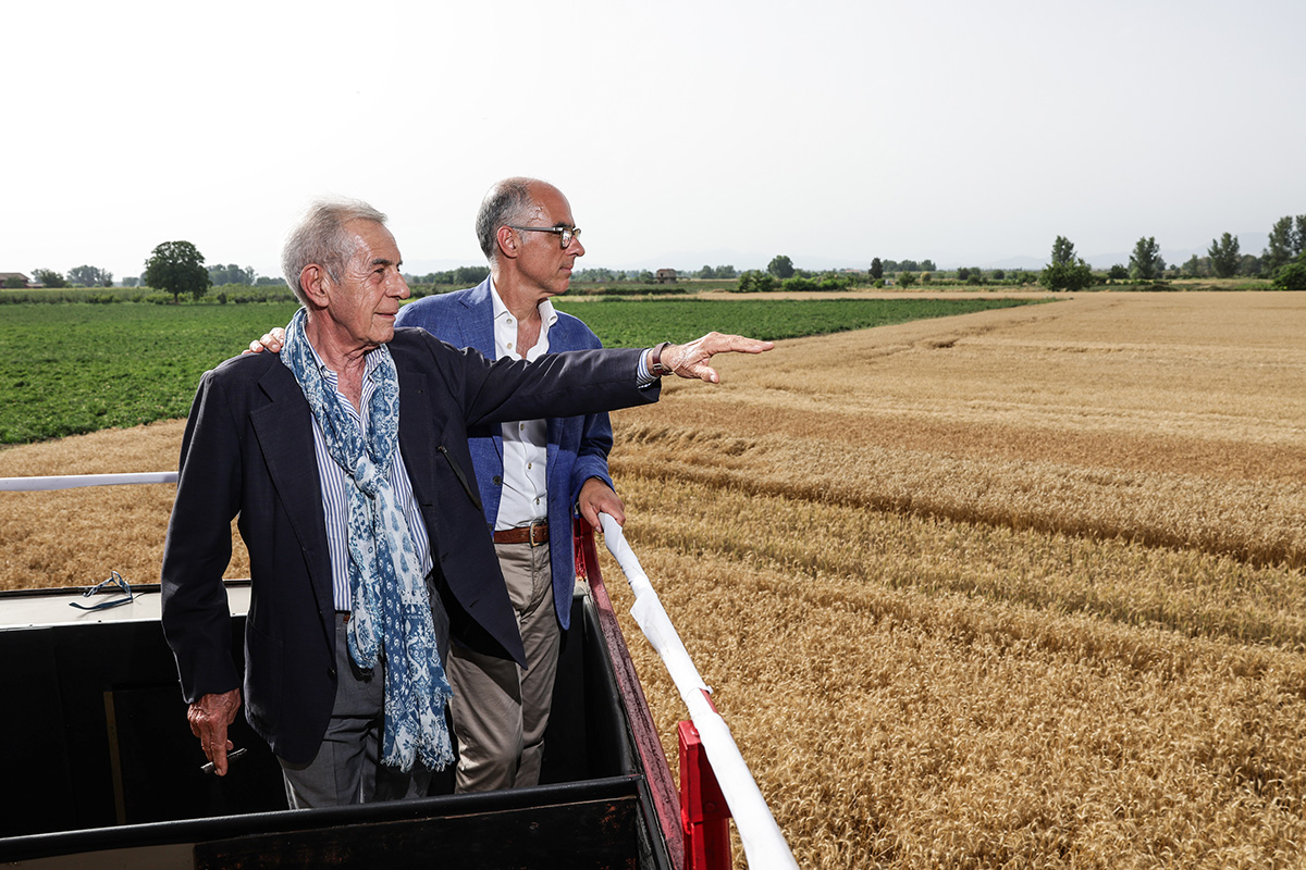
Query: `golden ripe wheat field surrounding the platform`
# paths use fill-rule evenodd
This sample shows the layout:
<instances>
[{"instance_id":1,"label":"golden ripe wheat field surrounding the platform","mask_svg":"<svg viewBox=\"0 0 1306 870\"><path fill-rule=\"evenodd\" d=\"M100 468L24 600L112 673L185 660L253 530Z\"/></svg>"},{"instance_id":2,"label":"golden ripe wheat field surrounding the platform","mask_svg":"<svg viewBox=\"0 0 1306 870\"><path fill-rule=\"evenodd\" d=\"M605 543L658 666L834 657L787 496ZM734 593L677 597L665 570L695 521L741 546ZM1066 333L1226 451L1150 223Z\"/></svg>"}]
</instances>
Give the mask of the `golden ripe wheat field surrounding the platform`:
<instances>
[{"instance_id":1,"label":"golden ripe wheat field surrounding the platform","mask_svg":"<svg viewBox=\"0 0 1306 870\"><path fill-rule=\"evenodd\" d=\"M627 536L801 866L1306 866L1303 334L1301 295L1087 293L614 415ZM0 475L167 468L180 432ZM0 587L153 580L170 500L7 493Z\"/></svg>"}]
</instances>

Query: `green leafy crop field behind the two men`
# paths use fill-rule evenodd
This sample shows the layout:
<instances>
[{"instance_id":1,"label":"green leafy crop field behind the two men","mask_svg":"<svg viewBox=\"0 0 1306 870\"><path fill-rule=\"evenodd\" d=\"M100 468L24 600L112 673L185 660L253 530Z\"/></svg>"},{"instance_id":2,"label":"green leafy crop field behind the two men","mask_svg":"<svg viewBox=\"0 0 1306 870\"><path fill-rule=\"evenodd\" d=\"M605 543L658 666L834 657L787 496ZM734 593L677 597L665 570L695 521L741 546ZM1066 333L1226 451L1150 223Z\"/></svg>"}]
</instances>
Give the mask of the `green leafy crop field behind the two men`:
<instances>
[{"instance_id":1,"label":"green leafy crop field behind the two men","mask_svg":"<svg viewBox=\"0 0 1306 870\"><path fill-rule=\"evenodd\" d=\"M818 335L1028 300L597 300L564 303L605 344L690 340L709 329ZM200 376L285 325L294 303L14 304L0 317L0 443L184 417Z\"/></svg>"}]
</instances>

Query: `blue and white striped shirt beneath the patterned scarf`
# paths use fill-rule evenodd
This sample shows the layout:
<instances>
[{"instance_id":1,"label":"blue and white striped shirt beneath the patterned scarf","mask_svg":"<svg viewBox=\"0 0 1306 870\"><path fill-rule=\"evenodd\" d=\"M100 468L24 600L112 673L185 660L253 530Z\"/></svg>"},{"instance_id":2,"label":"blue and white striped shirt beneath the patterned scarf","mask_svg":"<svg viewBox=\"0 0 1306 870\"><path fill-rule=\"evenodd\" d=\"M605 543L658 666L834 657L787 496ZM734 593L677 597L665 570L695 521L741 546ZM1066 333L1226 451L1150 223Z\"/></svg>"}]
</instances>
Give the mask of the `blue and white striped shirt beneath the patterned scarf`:
<instances>
[{"instance_id":1,"label":"blue and white striped shirt beneath the patterned scarf","mask_svg":"<svg viewBox=\"0 0 1306 870\"><path fill-rule=\"evenodd\" d=\"M310 347L312 346L310 344ZM366 408L371 402L372 394L376 391L377 380L375 369L380 359L375 353L368 353L364 360L367 368L363 374L362 404ZM313 350L313 361L317 364L323 380L340 397L341 407L346 410L349 416L366 434L367 417L359 415L354 410L354 404L340 391L340 377L326 368L321 357L317 356L316 350ZM336 599L337 610L350 610L353 608L350 607L351 595L349 588L349 494L354 489L354 484L345 471L336 464L336 460L330 458L330 453L326 451L326 440L323 437L323 428L317 423L316 416L313 417L313 447L317 454L317 477L323 485L323 513L326 520L326 550L330 553L332 595ZM409 480L407 468L398 449L394 450L390 467L387 470L387 479L394 488L394 494L398 497L404 517L407 518L409 532L413 535L413 545L417 548L418 558L422 560L422 575L426 577L431 573L434 565L431 561L431 539L427 536L426 523L422 520L422 513L417 507L417 500L413 498L413 481Z\"/></svg>"}]
</instances>

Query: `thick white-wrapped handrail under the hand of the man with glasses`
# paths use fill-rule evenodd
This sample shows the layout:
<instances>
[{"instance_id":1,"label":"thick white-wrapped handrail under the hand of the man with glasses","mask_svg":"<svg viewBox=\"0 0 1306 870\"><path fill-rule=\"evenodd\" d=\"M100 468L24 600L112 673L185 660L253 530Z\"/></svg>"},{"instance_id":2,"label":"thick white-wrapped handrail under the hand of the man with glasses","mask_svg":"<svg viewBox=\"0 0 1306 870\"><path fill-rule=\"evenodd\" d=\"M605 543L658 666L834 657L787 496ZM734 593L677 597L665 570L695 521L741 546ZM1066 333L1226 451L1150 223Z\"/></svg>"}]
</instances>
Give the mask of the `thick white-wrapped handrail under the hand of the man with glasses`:
<instances>
[{"instance_id":1,"label":"thick white-wrapped handrail under the hand of the man with glasses","mask_svg":"<svg viewBox=\"0 0 1306 870\"><path fill-rule=\"evenodd\" d=\"M648 574L640 567L640 561L635 558L626 535L615 519L607 514L599 514L603 526L603 544L620 565L626 580L635 592L635 607L631 616L644 630L644 637L649 639L653 648L666 664L671 680L675 682L680 698L690 708L690 719L703 738L703 747L712 762L712 771L721 785L721 794L726 798L730 814L734 817L735 828L743 841L744 857L748 867L757 870L798 870L794 853L789 849L785 835L781 833L776 818L767 806L767 800L761 796L757 783L752 779L748 764L744 763L739 747L730 734L721 715L712 708L705 691L712 691L699 676L699 669L690 659L688 651L680 642L680 635L671 618L662 608L662 603L653 591Z\"/></svg>"}]
</instances>

